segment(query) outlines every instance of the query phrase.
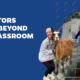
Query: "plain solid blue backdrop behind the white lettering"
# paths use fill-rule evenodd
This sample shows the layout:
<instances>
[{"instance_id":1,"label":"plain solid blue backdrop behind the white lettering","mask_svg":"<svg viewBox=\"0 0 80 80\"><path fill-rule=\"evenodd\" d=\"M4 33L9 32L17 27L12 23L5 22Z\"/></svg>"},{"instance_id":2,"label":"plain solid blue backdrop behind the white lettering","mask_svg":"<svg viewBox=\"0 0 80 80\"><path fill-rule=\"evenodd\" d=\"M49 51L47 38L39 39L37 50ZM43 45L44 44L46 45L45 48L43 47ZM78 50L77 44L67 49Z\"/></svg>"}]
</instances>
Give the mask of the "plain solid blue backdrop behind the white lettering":
<instances>
[{"instance_id":1,"label":"plain solid blue backdrop behind the white lettering","mask_svg":"<svg viewBox=\"0 0 80 80\"><path fill-rule=\"evenodd\" d=\"M0 17L17 20L0 25L26 25L25 33L34 33L34 39L0 39L0 80L42 80L46 67L38 54L46 28L58 30L79 7L79 0L0 0Z\"/></svg>"}]
</instances>

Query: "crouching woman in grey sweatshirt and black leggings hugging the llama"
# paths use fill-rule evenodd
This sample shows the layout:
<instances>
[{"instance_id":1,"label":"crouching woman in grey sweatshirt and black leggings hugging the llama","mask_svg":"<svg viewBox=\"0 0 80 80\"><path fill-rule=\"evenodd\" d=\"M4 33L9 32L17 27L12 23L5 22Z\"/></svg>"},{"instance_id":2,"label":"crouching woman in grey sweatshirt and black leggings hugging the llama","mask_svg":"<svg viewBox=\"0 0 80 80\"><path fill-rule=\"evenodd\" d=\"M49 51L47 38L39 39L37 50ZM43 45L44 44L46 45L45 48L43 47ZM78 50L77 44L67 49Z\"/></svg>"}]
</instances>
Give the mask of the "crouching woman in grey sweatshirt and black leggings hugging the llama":
<instances>
[{"instance_id":1,"label":"crouching woman in grey sweatshirt and black leggings hugging the llama","mask_svg":"<svg viewBox=\"0 0 80 80\"><path fill-rule=\"evenodd\" d=\"M51 28L46 29L47 38L42 41L40 51L39 51L39 61L46 66L47 70L45 71L45 75L43 80L50 80L47 75L54 79L54 76L51 74L55 70L55 64L53 61L55 49L50 49L49 47L49 40L50 46L53 48L53 36Z\"/></svg>"}]
</instances>

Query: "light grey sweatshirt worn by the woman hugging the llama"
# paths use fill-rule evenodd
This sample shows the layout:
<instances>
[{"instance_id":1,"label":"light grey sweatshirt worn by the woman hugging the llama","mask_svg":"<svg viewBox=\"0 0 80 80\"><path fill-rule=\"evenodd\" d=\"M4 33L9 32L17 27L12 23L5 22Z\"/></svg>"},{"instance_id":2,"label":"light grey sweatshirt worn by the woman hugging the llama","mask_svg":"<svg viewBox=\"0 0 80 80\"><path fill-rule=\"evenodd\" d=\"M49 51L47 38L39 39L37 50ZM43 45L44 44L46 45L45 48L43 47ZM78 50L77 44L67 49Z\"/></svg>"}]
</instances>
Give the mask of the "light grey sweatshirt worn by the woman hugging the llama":
<instances>
[{"instance_id":1,"label":"light grey sweatshirt worn by the woman hugging the llama","mask_svg":"<svg viewBox=\"0 0 80 80\"><path fill-rule=\"evenodd\" d=\"M53 40L50 40L50 46L53 48ZM52 49L49 47L49 40L48 37L42 41L39 51L39 61L46 62L53 60L54 54Z\"/></svg>"}]
</instances>

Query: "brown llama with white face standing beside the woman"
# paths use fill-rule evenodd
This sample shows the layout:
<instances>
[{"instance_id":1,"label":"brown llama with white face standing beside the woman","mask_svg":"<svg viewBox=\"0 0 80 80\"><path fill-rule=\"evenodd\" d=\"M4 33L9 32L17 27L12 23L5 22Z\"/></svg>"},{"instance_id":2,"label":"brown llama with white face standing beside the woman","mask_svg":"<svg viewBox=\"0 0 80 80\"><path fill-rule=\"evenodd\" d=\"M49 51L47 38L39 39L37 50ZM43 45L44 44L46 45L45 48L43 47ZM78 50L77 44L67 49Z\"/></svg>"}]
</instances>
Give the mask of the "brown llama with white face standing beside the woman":
<instances>
[{"instance_id":1,"label":"brown llama with white face standing beside the woman","mask_svg":"<svg viewBox=\"0 0 80 80\"><path fill-rule=\"evenodd\" d=\"M73 52L73 41L70 38L65 38L60 40L60 30L61 27L59 28L58 31L54 31L53 28L51 28L53 32L53 48L56 50L56 63L57 63L57 72L58 74L58 69L59 69L59 61L62 59L62 72L64 72L64 61L68 56L70 56L70 64L72 63L71 58L72 58L72 52Z\"/></svg>"}]
</instances>

